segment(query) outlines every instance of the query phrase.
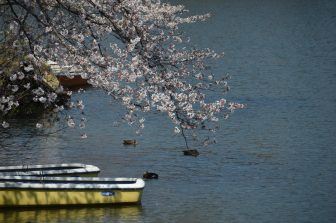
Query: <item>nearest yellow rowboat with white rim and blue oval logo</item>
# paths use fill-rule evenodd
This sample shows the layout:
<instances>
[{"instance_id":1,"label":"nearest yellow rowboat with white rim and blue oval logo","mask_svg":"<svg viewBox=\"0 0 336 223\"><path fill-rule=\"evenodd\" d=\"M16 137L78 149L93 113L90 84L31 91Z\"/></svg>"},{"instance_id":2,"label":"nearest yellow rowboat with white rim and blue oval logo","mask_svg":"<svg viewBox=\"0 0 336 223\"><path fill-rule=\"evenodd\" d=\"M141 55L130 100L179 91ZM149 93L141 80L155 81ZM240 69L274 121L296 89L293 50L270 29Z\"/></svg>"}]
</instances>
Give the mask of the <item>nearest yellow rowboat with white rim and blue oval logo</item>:
<instances>
[{"instance_id":1,"label":"nearest yellow rowboat with white rim and blue oval logo","mask_svg":"<svg viewBox=\"0 0 336 223\"><path fill-rule=\"evenodd\" d=\"M138 178L0 177L0 207L140 203Z\"/></svg>"}]
</instances>

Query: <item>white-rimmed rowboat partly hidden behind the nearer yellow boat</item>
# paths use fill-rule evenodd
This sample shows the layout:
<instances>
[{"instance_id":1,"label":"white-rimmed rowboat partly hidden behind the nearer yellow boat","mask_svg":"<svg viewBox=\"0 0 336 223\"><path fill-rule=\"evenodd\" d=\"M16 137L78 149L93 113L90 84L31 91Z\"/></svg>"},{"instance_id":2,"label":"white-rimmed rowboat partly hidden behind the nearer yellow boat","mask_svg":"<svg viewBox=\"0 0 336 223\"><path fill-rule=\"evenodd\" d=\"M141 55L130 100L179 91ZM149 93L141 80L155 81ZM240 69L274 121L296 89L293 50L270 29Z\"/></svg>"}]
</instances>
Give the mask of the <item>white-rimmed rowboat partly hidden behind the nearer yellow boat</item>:
<instances>
[{"instance_id":1,"label":"white-rimmed rowboat partly hidden behind the nearer yellow boat","mask_svg":"<svg viewBox=\"0 0 336 223\"><path fill-rule=\"evenodd\" d=\"M100 169L82 163L0 166L1 176L97 176Z\"/></svg>"}]
</instances>

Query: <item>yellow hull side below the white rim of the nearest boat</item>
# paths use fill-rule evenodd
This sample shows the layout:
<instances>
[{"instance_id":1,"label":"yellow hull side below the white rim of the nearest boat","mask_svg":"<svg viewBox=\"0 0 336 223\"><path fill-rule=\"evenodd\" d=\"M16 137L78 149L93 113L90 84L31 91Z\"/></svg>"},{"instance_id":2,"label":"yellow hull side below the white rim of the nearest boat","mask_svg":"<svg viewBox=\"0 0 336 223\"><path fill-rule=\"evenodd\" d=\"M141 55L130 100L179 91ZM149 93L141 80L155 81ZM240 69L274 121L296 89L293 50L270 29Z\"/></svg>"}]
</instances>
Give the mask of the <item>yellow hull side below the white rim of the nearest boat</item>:
<instances>
[{"instance_id":1,"label":"yellow hull side below the white rim of the nearest boat","mask_svg":"<svg viewBox=\"0 0 336 223\"><path fill-rule=\"evenodd\" d=\"M142 190L0 190L0 206L58 206L140 203Z\"/></svg>"}]
</instances>

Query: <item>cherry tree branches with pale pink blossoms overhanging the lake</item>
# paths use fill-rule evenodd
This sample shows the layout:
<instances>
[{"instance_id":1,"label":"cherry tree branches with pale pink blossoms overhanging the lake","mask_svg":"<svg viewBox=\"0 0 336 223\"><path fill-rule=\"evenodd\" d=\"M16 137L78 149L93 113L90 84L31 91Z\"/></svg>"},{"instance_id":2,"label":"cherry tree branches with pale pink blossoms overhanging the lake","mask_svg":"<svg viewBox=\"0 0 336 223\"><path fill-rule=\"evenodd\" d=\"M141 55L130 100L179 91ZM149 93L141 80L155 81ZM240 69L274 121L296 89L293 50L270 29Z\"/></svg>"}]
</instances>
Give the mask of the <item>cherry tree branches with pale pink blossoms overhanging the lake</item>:
<instances>
[{"instance_id":1,"label":"cherry tree branches with pale pink blossoms overhanging the lake","mask_svg":"<svg viewBox=\"0 0 336 223\"><path fill-rule=\"evenodd\" d=\"M228 76L206 66L222 54L191 47L179 29L210 15L186 12L159 0L0 0L0 38L14 37L11 45L34 64L52 60L80 71L124 105L128 123L143 128L142 113L159 111L175 133L197 138L198 130L216 131L219 118L244 105L207 97L225 94Z\"/></svg>"}]
</instances>

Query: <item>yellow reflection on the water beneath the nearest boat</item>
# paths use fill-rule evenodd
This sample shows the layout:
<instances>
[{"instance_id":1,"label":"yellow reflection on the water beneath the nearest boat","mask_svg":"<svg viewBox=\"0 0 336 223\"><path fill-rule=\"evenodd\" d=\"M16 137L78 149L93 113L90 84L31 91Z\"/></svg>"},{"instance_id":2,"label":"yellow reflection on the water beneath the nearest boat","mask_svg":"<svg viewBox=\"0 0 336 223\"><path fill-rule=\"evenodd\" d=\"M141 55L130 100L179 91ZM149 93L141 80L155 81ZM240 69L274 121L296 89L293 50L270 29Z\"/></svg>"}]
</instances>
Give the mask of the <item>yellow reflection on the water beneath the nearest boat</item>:
<instances>
[{"instance_id":1,"label":"yellow reflection on the water beneath the nearest boat","mask_svg":"<svg viewBox=\"0 0 336 223\"><path fill-rule=\"evenodd\" d=\"M0 222L141 222L142 208L132 206L8 209L0 212Z\"/></svg>"}]
</instances>

